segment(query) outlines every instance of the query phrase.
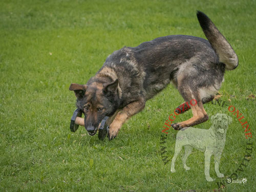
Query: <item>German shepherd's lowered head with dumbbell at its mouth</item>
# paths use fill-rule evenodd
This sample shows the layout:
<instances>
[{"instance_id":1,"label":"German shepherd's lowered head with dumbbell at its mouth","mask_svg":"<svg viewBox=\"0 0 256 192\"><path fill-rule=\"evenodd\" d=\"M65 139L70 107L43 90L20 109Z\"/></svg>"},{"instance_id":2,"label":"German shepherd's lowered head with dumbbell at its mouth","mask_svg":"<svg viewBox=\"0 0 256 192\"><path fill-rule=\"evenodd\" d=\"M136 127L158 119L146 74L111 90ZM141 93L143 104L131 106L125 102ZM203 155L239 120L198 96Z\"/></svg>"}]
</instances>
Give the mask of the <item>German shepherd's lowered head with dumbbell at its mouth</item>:
<instances>
[{"instance_id":1,"label":"German shepherd's lowered head with dumbbell at its mouth","mask_svg":"<svg viewBox=\"0 0 256 192\"><path fill-rule=\"evenodd\" d=\"M89 80L87 84L71 83L69 90L77 97L77 108L84 114L86 130L95 135L101 120L115 113L119 105L118 79L109 83Z\"/></svg>"}]
</instances>

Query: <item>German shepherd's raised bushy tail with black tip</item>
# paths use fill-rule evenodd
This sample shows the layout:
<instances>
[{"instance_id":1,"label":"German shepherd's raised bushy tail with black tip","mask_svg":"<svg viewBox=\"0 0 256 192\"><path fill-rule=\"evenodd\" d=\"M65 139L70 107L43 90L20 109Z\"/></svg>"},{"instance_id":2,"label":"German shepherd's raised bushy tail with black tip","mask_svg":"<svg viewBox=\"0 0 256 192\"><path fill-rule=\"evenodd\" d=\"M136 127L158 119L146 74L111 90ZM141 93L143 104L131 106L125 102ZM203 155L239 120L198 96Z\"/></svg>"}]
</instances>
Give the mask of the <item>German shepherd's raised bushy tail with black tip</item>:
<instances>
[{"instance_id":1,"label":"German shepherd's raised bushy tail with black tip","mask_svg":"<svg viewBox=\"0 0 256 192\"><path fill-rule=\"evenodd\" d=\"M236 69L238 67L238 56L226 38L203 12L197 11L197 18L211 47L219 56L220 62L225 63L225 69Z\"/></svg>"}]
</instances>

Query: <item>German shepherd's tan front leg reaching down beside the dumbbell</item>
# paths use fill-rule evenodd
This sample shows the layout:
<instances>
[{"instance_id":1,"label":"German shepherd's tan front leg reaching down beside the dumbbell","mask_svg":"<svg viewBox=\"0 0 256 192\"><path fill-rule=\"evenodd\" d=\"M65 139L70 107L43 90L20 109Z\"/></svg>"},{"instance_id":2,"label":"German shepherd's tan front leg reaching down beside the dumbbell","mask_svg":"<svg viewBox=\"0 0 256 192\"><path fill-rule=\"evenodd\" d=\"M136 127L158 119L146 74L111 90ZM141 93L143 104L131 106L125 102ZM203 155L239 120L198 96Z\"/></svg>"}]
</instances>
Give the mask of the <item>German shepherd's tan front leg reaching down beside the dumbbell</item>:
<instances>
[{"instance_id":1,"label":"German shepherd's tan front leg reaching down beside the dumbbell","mask_svg":"<svg viewBox=\"0 0 256 192\"><path fill-rule=\"evenodd\" d=\"M125 122L126 119L140 112L145 106L145 100L137 100L127 104L121 111L119 111L110 124L109 140L114 139Z\"/></svg>"}]
</instances>

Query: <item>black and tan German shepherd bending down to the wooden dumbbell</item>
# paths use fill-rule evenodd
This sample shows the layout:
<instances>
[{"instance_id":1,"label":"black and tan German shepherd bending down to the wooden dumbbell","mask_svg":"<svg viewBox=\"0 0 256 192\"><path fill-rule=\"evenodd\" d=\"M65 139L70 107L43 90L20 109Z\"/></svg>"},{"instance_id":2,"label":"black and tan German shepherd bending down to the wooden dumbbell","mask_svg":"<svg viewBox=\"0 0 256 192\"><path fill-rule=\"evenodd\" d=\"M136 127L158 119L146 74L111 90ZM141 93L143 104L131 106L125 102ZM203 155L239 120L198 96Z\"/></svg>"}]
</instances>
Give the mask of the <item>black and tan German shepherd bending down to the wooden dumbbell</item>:
<instances>
[{"instance_id":1,"label":"black and tan German shepherd bending down to the wooden dumbbell","mask_svg":"<svg viewBox=\"0 0 256 192\"><path fill-rule=\"evenodd\" d=\"M238 57L228 41L202 12L197 12L208 40L187 35L169 35L123 47L106 58L87 84L72 83L85 127L95 135L101 120L112 117L109 140L114 139L126 119L140 112L148 99L172 81L186 106L192 99L193 117L172 124L176 130L208 120L203 103L211 101L221 87L225 70L238 66ZM190 109L186 106L186 109ZM181 111L181 110L180 110Z\"/></svg>"}]
</instances>

